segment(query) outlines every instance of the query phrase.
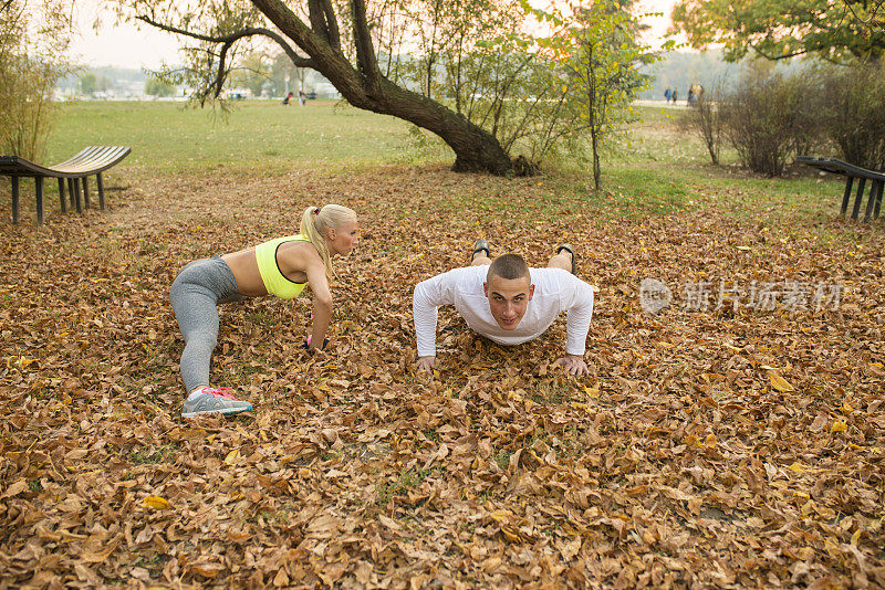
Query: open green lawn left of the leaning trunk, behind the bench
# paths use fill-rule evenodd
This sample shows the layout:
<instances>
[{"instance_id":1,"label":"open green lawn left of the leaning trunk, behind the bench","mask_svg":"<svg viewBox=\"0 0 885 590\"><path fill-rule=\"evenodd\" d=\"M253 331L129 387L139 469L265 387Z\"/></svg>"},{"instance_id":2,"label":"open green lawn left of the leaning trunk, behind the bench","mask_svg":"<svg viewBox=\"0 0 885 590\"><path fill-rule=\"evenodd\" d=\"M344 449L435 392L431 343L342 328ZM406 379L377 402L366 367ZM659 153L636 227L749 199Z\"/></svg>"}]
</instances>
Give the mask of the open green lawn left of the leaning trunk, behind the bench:
<instances>
[{"instance_id":1,"label":"open green lawn left of the leaning trunk, behind the bench","mask_svg":"<svg viewBox=\"0 0 885 590\"><path fill-rule=\"evenodd\" d=\"M127 145L127 166L158 171L218 166L266 170L391 164L407 157L405 123L350 106L311 101L237 103L227 113L173 102L62 105L50 161L86 145Z\"/></svg>"}]
</instances>

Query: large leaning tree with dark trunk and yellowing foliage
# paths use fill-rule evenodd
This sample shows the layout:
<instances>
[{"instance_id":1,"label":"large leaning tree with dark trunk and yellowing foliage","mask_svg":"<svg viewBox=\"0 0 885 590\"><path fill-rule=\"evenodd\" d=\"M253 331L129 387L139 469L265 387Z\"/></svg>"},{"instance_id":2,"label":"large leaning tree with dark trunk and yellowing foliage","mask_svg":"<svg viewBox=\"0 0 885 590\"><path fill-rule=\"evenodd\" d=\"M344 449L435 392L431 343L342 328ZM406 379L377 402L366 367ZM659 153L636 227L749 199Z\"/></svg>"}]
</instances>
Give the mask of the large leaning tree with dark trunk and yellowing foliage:
<instances>
[{"instance_id":1,"label":"large leaning tree with dark trunk and yellowing foliage","mask_svg":"<svg viewBox=\"0 0 885 590\"><path fill-rule=\"evenodd\" d=\"M406 13L402 0L381 0L381 7L367 6L366 0L116 1L122 17L195 43L189 49L189 69L200 82L195 88L201 102L221 94L238 44L264 38L279 45L295 66L325 76L351 105L392 115L439 136L455 151L454 170L507 175L513 169L491 133L382 72L373 33L384 29L381 17ZM467 0L435 0L434 4L451 2L467 4ZM409 27L428 25L420 22L424 17L419 13L419 22Z\"/></svg>"}]
</instances>

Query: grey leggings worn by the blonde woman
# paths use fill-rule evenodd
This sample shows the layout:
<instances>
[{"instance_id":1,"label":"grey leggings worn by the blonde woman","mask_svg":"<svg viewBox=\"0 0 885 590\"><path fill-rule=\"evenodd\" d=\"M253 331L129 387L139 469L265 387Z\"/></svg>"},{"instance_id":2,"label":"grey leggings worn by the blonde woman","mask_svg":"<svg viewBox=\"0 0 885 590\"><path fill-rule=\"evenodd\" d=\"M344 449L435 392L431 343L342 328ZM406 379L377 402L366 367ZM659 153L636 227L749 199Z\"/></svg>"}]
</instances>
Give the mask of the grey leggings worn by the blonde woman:
<instances>
[{"instance_id":1,"label":"grey leggings worn by the blonde woman","mask_svg":"<svg viewBox=\"0 0 885 590\"><path fill-rule=\"evenodd\" d=\"M181 379L186 391L209 384L209 361L218 341L217 306L243 298L221 256L194 261L175 277L169 301L185 338Z\"/></svg>"}]
</instances>

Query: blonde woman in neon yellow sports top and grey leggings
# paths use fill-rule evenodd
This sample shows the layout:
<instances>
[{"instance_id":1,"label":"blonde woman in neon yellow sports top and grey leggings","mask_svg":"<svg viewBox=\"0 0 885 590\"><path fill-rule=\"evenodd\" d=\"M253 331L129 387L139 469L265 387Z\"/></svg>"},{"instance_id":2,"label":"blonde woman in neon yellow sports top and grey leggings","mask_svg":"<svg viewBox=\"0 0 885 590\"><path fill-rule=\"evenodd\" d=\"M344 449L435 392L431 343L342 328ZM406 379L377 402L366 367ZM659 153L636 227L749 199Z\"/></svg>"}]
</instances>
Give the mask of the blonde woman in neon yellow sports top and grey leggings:
<instances>
[{"instance_id":1,"label":"blonde woman in neon yellow sports top and grey leggings","mask_svg":"<svg viewBox=\"0 0 885 590\"><path fill-rule=\"evenodd\" d=\"M209 384L209 362L218 338L218 305L246 297L275 295L293 299L310 283L313 292L313 330L304 343L322 349L332 315L332 256L348 254L358 242L356 213L340 204L309 207L296 235L270 240L232 254L187 264L178 273L169 301L185 339L181 379L188 397L184 418L220 412L252 411L229 388Z\"/></svg>"}]
</instances>

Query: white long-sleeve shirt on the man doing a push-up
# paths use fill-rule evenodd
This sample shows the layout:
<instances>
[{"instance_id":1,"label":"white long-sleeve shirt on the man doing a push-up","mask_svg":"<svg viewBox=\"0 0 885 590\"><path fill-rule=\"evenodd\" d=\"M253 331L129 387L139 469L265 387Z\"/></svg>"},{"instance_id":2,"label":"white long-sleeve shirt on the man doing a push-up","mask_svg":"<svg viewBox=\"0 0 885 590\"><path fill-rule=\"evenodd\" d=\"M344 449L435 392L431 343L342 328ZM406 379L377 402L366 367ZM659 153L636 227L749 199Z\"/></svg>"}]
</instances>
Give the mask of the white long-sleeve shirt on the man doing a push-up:
<instances>
[{"instance_id":1,"label":"white long-sleeve shirt on the man doing a push-up","mask_svg":"<svg viewBox=\"0 0 885 590\"><path fill-rule=\"evenodd\" d=\"M454 305L473 331L506 346L539 337L562 312L569 312L565 352L584 354L593 316L593 287L562 268L530 268L534 295L516 329L506 330L492 317L489 299L482 289L488 271L488 266L455 268L415 286L412 309L419 357L436 356L440 305Z\"/></svg>"}]
</instances>

